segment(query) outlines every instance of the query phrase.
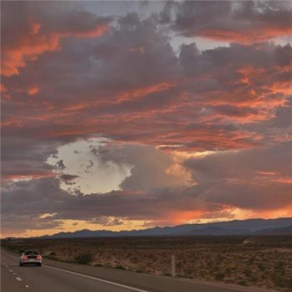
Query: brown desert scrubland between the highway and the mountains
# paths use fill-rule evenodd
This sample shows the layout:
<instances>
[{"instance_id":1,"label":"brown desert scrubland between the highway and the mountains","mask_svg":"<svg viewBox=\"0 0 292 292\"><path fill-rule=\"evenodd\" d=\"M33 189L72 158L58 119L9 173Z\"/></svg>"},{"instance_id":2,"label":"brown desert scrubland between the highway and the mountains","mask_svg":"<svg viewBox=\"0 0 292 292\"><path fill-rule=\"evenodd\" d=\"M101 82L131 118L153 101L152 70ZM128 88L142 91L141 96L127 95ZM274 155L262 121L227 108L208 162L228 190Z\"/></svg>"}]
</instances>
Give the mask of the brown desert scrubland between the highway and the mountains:
<instances>
[{"instance_id":1,"label":"brown desert scrubland between the highway and the mountains","mask_svg":"<svg viewBox=\"0 0 292 292\"><path fill-rule=\"evenodd\" d=\"M292 291L292 236L193 236L168 238L88 238L1 241L11 250L37 248L48 257L74 261L90 253L92 266Z\"/></svg>"}]
</instances>

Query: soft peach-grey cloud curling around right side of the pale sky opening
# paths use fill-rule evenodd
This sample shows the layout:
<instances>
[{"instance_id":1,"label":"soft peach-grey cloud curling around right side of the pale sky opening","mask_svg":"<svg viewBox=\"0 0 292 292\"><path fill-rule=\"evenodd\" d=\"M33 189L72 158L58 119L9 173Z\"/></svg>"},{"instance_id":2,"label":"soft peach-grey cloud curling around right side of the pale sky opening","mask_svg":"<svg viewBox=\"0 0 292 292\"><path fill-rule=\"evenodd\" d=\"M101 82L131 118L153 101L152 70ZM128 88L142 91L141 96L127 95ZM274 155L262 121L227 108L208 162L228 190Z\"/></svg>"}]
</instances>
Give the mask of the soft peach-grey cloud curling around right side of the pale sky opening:
<instances>
[{"instance_id":1,"label":"soft peach-grey cloud curling around right side of the pale sky opening","mask_svg":"<svg viewBox=\"0 0 292 292\"><path fill-rule=\"evenodd\" d=\"M170 154L147 145L120 145L108 143L91 151L104 163L113 162L132 165L131 173L120 184L122 190L151 190L165 186L188 185L185 172L168 171L175 161Z\"/></svg>"}]
</instances>

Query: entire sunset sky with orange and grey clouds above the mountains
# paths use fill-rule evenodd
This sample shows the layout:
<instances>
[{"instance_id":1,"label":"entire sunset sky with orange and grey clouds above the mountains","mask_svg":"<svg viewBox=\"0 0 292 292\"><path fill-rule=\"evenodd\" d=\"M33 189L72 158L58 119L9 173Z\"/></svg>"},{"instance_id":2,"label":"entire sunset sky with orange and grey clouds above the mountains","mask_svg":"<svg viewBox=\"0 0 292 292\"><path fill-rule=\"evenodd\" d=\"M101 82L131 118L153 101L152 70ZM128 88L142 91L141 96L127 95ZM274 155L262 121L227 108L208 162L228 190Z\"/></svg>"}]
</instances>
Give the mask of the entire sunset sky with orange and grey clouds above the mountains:
<instances>
[{"instance_id":1,"label":"entire sunset sky with orange and grey clouds above the mountains","mask_svg":"<svg viewBox=\"0 0 292 292\"><path fill-rule=\"evenodd\" d=\"M292 216L292 1L1 1L1 236Z\"/></svg>"}]
</instances>

